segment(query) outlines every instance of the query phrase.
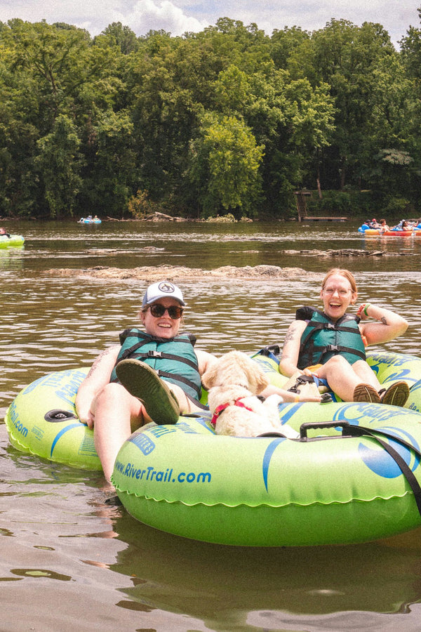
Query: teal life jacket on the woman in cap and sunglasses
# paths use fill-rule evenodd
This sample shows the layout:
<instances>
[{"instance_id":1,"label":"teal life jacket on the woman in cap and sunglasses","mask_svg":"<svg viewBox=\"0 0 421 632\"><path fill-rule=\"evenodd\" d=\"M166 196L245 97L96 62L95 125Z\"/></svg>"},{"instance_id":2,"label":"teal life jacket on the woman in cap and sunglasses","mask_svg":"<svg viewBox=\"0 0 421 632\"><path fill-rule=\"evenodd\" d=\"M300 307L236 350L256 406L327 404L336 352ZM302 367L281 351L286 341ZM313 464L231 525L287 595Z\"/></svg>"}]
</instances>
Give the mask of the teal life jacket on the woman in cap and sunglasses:
<instances>
[{"instance_id":1,"label":"teal life jacket on the woman in cap and sunglasses","mask_svg":"<svg viewBox=\"0 0 421 632\"><path fill-rule=\"evenodd\" d=\"M194 401L201 397L199 361L193 345L193 334L178 334L174 338L157 338L133 327L120 334L121 348L112 370L111 382L118 382L116 365L126 358L148 364L165 381L177 384Z\"/></svg>"}]
</instances>

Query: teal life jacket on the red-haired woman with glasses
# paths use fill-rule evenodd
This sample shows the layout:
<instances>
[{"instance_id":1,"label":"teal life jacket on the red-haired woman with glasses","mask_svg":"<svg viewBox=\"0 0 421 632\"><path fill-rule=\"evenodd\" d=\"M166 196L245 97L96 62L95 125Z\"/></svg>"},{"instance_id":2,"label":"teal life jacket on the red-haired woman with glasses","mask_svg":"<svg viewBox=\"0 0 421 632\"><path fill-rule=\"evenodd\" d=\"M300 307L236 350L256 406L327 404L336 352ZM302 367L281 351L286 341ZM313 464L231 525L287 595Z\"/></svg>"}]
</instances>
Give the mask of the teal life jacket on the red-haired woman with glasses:
<instances>
[{"instance_id":1,"label":"teal life jacket on the red-haired woman with glasses","mask_svg":"<svg viewBox=\"0 0 421 632\"><path fill-rule=\"evenodd\" d=\"M298 308L295 320L307 320L302 332L298 369L324 364L334 355L342 355L349 364L366 360L366 350L359 330L359 317L343 315L333 322L324 312L312 307Z\"/></svg>"}]
</instances>

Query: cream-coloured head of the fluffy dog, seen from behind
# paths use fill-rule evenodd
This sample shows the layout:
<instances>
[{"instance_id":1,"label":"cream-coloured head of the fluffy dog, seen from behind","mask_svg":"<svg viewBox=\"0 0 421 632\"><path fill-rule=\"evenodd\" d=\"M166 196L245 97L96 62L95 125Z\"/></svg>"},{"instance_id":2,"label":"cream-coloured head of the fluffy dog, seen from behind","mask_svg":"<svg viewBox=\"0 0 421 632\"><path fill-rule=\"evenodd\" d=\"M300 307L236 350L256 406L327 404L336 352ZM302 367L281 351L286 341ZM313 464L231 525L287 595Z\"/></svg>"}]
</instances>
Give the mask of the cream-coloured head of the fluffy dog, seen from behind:
<instances>
[{"instance_id":1,"label":"cream-coloured head of the fluffy dog, seen from behind","mask_svg":"<svg viewBox=\"0 0 421 632\"><path fill-rule=\"evenodd\" d=\"M215 386L238 384L254 395L262 393L269 384L260 365L241 351L229 351L222 355L203 374L201 381L206 390Z\"/></svg>"}]
</instances>

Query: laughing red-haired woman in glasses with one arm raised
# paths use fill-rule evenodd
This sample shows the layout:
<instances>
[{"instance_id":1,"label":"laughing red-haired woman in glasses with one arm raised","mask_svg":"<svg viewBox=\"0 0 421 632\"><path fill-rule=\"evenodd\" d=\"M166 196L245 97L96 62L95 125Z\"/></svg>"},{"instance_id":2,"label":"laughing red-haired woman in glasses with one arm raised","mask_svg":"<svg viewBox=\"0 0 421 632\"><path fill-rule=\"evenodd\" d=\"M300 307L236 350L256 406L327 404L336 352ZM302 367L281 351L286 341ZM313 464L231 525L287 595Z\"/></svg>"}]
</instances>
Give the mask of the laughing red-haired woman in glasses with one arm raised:
<instances>
[{"instance_id":1,"label":"laughing red-haired woman in glasses with one arm raised","mask_svg":"<svg viewBox=\"0 0 421 632\"><path fill-rule=\"evenodd\" d=\"M279 371L313 375L347 402L382 402L403 406L409 395L406 382L382 389L366 362L366 345L401 336L408 322L391 310L362 303L356 316L347 315L358 291L349 270L329 270L321 284L323 310L300 308L283 345Z\"/></svg>"}]
</instances>

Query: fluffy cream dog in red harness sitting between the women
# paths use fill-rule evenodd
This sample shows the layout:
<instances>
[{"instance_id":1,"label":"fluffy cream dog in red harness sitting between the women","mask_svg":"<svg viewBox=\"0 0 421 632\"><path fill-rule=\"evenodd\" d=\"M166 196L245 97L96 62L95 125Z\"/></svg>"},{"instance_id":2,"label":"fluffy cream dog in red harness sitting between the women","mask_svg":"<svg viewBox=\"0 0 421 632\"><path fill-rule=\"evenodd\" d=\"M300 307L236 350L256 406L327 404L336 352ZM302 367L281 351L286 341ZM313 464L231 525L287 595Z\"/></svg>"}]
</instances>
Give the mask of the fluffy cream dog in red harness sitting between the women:
<instances>
[{"instance_id":1,"label":"fluffy cream dog in red harness sitting between the women","mask_svg":"<svg viewBox=\"0 0 421 632\"><path fill-rule=\"evenodd\" d=\"M269 380L257 362L246 353L229 351L222 355L202 376L208 390L208 404L217 435L257 437L280 433L295 439L298 433L279 421L280 395L258 397Z\"/></svg>"}]
</instances>

